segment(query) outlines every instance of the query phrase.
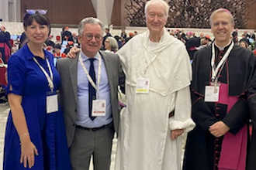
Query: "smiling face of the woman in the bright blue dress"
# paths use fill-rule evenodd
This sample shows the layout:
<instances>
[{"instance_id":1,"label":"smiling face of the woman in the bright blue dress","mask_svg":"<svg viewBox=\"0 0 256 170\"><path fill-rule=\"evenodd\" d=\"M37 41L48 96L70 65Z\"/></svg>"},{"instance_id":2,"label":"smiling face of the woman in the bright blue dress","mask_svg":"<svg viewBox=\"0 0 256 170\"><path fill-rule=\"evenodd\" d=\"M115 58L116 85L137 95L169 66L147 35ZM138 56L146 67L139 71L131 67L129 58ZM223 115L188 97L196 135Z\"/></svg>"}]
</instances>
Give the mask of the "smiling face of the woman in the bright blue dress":
<instances>
[{"instance_id":1,"label":"smiling face of the woman in the bright blue dress","mask_svg":"<svg viewBox=\"0 0 256 170\"><path fill-rule=\"evenodd\" d=\"M26 26L25 32L29 43L42 44L47 40L50 29L47 25L40 25L35 20L30 26Z\"/></svg>"}]
</instances>

